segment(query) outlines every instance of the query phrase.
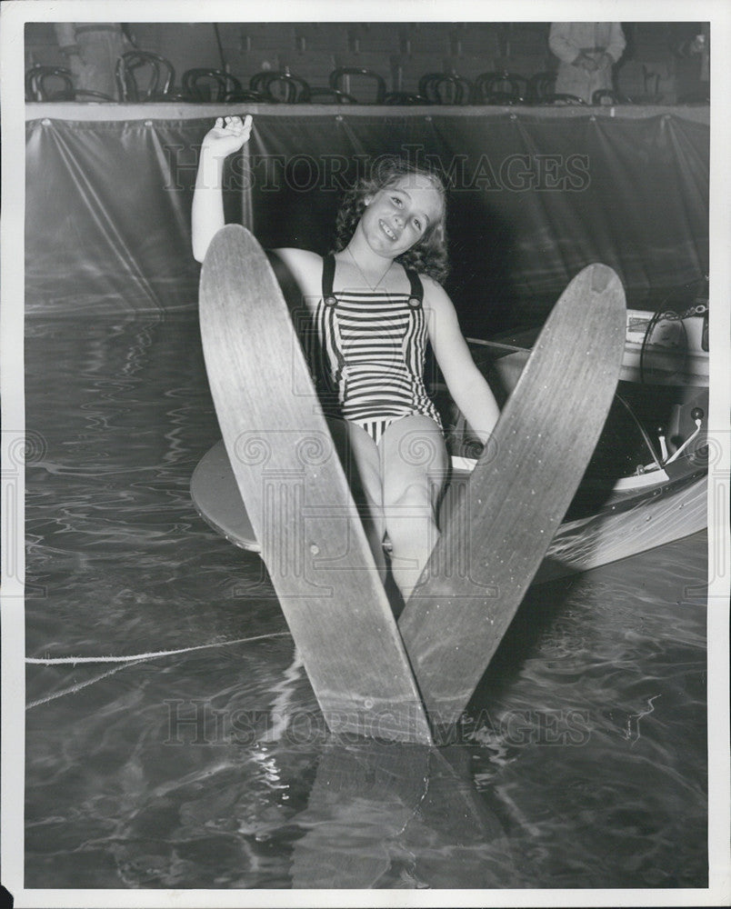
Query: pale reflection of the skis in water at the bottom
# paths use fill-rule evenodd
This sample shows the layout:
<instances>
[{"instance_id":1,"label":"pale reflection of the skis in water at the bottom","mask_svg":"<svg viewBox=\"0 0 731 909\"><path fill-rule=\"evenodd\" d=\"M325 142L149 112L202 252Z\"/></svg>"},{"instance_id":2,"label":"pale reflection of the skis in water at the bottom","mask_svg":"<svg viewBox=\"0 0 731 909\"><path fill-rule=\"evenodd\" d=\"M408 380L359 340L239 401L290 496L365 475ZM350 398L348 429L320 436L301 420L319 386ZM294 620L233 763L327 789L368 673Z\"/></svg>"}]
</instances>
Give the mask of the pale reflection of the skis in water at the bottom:
<instances>
[{"instance_id":1,"label":"pale reflection of the skis in water at the bottom","mask_svg":"<svg viewBox=\"0 0 731 909\"><path fill-rule=\"evenodd\" d=\"M506 834L449 746L325 746L295 842L295 887L499 887Z\"/></svg>"}]
</instances>

